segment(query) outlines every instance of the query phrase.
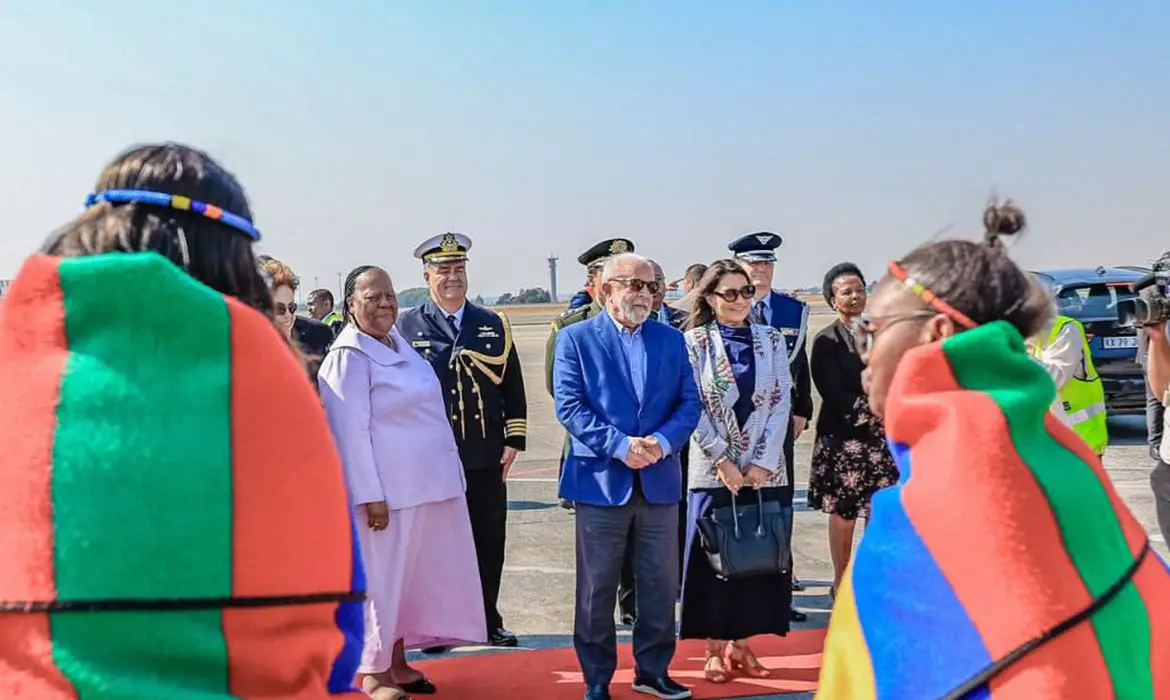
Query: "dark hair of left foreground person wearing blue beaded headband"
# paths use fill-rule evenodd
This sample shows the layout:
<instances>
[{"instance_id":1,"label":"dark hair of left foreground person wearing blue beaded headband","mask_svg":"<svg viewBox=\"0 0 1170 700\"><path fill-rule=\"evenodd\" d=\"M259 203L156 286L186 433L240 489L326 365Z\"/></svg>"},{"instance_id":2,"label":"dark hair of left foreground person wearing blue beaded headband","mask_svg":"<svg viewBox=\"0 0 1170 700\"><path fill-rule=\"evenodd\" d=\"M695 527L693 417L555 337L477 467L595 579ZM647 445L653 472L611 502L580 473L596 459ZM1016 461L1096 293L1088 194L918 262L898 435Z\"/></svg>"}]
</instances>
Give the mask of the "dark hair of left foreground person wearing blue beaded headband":
<instances>
[{"instance_id":1,"label":"dark hair of left foreground person wearing blue beaded headband","mask_svg":"<svg viewBox=\"0 0 1170 700\"><path fill-rule=\"evenodd\" d=\"M207 153L181 144L129 149L102 170L94 191L103 190L190 197L252 220L252 207L235 176ZM195 280L271 317L271 293L257 269L252 239L194 212L103 201L49 235L41 248L64 258L145 251L159 253Z\"/></svg>"}]
</instances>

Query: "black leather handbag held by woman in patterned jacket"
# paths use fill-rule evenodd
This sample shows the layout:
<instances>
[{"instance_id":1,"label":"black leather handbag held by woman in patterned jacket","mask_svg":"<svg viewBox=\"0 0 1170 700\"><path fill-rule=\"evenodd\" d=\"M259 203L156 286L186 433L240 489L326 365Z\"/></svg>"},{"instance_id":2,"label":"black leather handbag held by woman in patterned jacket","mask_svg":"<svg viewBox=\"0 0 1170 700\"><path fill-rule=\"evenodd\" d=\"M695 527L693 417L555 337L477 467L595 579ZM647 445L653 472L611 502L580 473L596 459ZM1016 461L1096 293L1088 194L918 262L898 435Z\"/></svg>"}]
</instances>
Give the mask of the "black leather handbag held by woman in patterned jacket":
<instances>
[{"instance_id":1,"label":"black leather handbag held by woman in patterned jacket","mask_svg":"<svg viewBox=\"0 0 1170 700\"><path fill-rule=\"evenodd\" d=\"M741 506L731 494L730 506L709 509L698 519L698 543L715 576L723 581L787 574L792 568L787 517L779 501L764 501L756 490L756 503Z\"/></svg>"}]
</instances>

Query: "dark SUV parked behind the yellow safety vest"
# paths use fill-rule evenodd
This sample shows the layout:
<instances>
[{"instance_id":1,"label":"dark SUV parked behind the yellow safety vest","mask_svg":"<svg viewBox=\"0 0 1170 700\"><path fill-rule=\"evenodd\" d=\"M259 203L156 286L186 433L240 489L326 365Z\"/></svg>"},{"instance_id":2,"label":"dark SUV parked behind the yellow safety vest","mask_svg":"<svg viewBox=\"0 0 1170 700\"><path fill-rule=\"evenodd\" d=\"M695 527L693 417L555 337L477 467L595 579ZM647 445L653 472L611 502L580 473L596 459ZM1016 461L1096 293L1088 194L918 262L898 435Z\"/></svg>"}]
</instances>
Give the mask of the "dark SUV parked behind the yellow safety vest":
<instances>
[{"instance_id":1,"label":"dark SUV parked behind the yellow safety vest","mask_svg":"<svg viewBox=\"0 0 1170 700\"><path fill-rule=\"evenodd\" d=\"M1110 414L1145 412L1145 377L1137 364L1137 334L1117 322L1117 302L1133 298L1129 286L1147 272L1140 267L1099 267L1032 273L1052 293L1058 313L1085 327Z\"/></svg>"}]
</instances>

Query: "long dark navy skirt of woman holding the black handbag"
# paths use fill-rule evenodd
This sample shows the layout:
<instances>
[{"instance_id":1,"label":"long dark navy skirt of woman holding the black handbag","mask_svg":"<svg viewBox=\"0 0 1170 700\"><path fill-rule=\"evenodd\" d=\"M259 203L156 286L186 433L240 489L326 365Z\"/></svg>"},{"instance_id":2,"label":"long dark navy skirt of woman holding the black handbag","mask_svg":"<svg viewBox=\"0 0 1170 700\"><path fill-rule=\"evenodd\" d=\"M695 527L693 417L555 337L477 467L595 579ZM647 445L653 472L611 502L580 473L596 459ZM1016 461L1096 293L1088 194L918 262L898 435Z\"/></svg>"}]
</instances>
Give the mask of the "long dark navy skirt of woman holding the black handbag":
<instances>
[{"instance_id":1,"label":"long dark navy skirt of woman holding the black handbag","mask_svg":"<svg viewBox=\"0 0 1170 700\"><path fill-rule=\"evenodd\" d=\"M783 501L784 489L764 488L765 501ZM755 497L748 490L739 492ZM725 488L690 492L687 503L687 547L683 551L680 639L746 639L756 634L787 634L792 608L792 575L766 574L722 581L698 544L696 522L709 508L731 505ZM791 513L789 517L791 517Z\"/></svg>"}]
</instances>

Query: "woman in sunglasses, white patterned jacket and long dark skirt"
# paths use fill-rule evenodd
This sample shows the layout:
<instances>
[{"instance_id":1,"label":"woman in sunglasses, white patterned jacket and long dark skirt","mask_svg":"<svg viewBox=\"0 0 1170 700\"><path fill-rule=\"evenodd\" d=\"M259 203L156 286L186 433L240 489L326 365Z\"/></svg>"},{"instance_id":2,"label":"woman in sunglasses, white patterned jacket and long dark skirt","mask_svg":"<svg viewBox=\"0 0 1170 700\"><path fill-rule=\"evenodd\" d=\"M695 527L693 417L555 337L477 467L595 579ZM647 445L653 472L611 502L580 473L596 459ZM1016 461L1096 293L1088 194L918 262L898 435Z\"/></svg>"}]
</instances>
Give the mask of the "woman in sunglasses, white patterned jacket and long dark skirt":
<instances>
[{"instance_id":1,"label":"woman in sunglasses, white patterned jacket and long dark skirt","mask_svg":"<svg viewBox=\"0 0 1170 700\"><path fill-rule=\"evenodd\" d=\"M769 670L745 640L786 634L792 602L790 570L721 579L702 550L696 527L710 508L732 505L741 489L751 501L779 502L787 485L784 437L792 402L787 345L775 328L750 322L753 294L738 262L711 263L696 289L686 332L703 409L690 439L679 637L707 640L704 677L711 682L725 682L732 672L768 677Z\"/></svg>"}]
</instances>

